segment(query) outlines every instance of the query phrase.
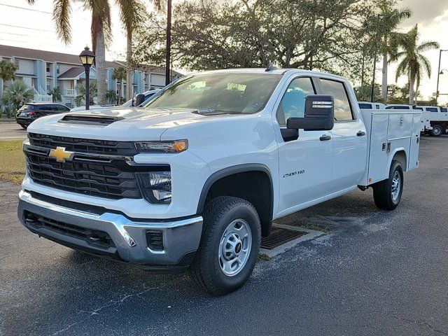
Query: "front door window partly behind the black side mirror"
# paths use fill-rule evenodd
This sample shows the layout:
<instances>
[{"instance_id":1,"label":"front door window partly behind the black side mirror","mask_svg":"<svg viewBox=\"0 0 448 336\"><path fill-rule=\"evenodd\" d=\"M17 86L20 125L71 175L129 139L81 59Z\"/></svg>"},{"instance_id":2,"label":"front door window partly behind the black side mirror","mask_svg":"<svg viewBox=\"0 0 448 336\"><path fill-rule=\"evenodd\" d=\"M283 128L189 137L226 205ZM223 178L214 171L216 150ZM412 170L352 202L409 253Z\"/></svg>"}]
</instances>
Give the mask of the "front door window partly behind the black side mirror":
<instances>
[{"instance_id":1,"label":"front door window partly behind the black side mirror","mask_svg":"<svg viewBox=\"0 0 448 336\"><path fill-rule=\"evenodd\" d=\"M288 118L302 118L304 116L305 97L308 94L316 94L311 78L295 78L289 84L277 111L277 121L280 125L286 125Z\"/></svg>"}]
</instances>

